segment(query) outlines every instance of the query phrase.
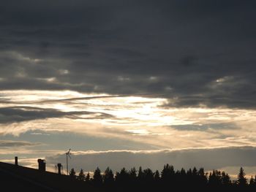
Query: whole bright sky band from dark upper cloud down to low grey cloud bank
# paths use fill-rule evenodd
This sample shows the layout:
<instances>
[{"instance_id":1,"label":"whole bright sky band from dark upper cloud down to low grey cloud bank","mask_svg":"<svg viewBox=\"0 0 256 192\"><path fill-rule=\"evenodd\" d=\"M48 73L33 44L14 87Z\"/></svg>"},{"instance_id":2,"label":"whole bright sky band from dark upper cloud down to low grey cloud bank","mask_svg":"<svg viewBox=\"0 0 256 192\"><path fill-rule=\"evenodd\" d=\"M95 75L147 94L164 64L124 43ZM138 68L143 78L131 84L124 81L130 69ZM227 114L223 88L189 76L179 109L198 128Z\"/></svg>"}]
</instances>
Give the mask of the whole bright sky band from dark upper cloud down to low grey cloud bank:
<instances>
[{"instance_id":1,"label":"whole bright sky band from dark upper cloud down to low grey cloud bank","mask_svg":"<svg viewBox=\"0 0 256 192\"><path fill-rule=\"evenodd\" d=\"M256 146L255 110L164 107L162 98L75 91L0 96L1 160L19 155L32 167L31 159L61 155L69 147L84 154Z\"/></svg>"}]
</instances>

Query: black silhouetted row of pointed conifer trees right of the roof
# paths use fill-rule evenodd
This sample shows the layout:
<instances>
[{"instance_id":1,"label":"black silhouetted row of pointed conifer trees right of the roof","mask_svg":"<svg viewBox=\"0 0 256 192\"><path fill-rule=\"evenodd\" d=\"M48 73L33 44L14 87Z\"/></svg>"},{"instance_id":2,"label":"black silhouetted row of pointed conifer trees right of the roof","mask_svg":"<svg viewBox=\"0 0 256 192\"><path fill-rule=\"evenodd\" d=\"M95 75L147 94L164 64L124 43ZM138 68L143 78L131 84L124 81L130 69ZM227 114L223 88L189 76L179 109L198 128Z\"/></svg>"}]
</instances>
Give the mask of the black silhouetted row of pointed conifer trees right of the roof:
<instances>
[{"instance_id":1,"label":"black silhouetted row of pointed conifer trees right of the roof","mask_svg":"<svg viewBox=\"0 0 256 192\"><path fill-rule=\"evenodd\" d=\"M105 169L105 172L101 172L97 167L94 174L91 175L84 174L83 169L80 169L78 176L75 174L75 170L71 169L69 175L73 179L97 186L105 191L159 191L166 188L175 188L180 191L187 189L241 189L244 191L249 189L251 191L256 189L256 176L247 181L242 167L236 180L231 180L229 174L224 171L213 170L208 173L203 168L195 167L187 171L183 168L175 170L169 164L166 164L161 172L142 169L140 166L138 170L123 168L120 172L113 174L109 167Z\"/></svg>"}]
</instances>

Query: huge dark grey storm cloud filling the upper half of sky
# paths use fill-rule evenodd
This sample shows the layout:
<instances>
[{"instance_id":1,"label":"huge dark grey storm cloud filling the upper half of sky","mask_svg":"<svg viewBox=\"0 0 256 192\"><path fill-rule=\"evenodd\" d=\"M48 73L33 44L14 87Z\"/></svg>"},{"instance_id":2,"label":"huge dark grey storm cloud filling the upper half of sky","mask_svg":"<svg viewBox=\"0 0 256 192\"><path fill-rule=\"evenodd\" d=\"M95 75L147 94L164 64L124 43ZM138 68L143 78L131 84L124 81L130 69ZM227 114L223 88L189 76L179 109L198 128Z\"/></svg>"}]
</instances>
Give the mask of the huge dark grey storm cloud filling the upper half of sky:
<instances>
[{"instance_id":1,"label":"huge dark grey storm cloud filling the upper half of sky","mask_svg":"<svg viewBox=\"0 0 256 192\"><path fill-rule=\"evenodd\" d=\"M0 88L148 93L175 107L255 108L255 7L237 0L6 1Z\"/></svg>"}]
</instances>

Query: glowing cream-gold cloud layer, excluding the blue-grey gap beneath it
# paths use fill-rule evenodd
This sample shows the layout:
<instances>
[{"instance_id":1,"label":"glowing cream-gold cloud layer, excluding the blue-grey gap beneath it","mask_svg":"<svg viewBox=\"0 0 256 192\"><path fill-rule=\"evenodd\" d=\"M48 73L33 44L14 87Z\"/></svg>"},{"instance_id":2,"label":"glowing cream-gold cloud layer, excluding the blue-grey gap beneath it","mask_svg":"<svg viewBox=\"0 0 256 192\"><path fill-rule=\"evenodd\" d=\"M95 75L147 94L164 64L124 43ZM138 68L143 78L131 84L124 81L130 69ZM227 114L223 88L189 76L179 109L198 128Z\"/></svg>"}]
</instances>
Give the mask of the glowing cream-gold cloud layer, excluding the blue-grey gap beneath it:
<instances>
[{"instance_id":1,"label":"glowing cream-gold cloud layer, excluding the blue-grey gap beneath it","mask_svg":"<svg viewBox=\"0 0 256 192\"><path fill-rule=\"evenodd\" d=\"M148 149L256 145L255 110L166 108L162 98L74 91L0 94L2 136L64 131L113 142L129 140Z\"/></svg>"}]
</instances>

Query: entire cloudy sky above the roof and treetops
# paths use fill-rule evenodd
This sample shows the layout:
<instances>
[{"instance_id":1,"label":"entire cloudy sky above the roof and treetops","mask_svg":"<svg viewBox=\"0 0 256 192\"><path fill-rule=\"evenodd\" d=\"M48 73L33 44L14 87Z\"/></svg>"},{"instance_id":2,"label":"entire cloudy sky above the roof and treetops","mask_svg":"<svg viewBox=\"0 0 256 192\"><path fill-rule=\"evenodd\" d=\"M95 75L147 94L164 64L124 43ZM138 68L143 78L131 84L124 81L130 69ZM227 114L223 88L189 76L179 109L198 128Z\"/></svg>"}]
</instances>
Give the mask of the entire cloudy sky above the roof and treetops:
<instances>
[{"instance_id":1,"label":"entire cloudy sky above the roof and treetops","mask_svg":"<svg viewBox=\"0 0 256 192\"><path fill-rule=\"evenodd\" d=\"M256 174L256 2L0 5L0 161Z\"/></svg>"}]
</instances>

